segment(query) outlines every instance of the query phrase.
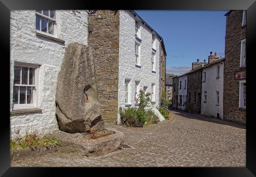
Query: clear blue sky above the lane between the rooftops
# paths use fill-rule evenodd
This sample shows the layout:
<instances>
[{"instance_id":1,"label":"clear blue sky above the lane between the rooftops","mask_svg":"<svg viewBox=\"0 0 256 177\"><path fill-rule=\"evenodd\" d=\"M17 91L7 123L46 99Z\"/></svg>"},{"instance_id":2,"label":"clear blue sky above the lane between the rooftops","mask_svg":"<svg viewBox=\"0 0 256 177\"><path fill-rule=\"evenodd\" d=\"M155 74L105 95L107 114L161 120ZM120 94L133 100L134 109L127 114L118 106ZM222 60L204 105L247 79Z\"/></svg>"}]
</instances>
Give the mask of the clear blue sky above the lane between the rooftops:
<instances>
[{"instance_id":1,"label":"clear blue sky above the lane between the rooftops","mask_svg":"<svg viewBox=\"0 0 256 177\"><path fill-rule=\"evenodd\" d=\"M135 10L165 44L166 73L182 74L212 51L224 57L226 11Z\"/></svg>"}]
</instances>

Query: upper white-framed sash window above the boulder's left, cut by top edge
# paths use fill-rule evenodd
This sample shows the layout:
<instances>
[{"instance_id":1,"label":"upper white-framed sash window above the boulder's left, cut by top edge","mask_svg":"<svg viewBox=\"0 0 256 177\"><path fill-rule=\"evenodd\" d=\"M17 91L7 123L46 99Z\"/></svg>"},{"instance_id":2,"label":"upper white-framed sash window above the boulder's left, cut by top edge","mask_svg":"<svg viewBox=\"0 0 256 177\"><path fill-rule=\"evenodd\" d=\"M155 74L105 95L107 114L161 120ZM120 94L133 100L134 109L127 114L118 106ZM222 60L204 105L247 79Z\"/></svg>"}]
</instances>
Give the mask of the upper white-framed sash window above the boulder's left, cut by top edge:
<instances>
[{"instance_id":1,"label":"upper white-framed sash window above the boulder's left, cut by top edge","mask_svg":"<svg viewBox=\"0 0 256 177\"><path fill-rule=\"evenodd\" d=\"M47 35L56 37L56 19L56 10L36 10L35 28L37 32L43 32Z\"/></svg>"}]
</instances>

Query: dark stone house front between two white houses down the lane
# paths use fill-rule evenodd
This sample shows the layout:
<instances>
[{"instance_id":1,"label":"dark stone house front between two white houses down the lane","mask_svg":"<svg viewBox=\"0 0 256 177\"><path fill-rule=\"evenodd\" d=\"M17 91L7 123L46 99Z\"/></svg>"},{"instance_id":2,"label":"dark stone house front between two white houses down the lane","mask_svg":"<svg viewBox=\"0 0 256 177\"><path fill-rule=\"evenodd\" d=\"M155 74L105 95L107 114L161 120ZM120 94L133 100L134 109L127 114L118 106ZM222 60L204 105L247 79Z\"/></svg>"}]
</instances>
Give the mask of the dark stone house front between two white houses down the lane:
<instances>
[{"instance_id":1,"label":"dark stone house front between two white houses down the lane","mask_svg":"<svg viewBox=\"0 0 256 177\"><path fill-rule=\"evenodd\" d=\"M199 113L201 110L202 69L195 70L194 72L187 74L187 77L187 103L191 104L192 111Z\"/></svg>"}]
</instances>

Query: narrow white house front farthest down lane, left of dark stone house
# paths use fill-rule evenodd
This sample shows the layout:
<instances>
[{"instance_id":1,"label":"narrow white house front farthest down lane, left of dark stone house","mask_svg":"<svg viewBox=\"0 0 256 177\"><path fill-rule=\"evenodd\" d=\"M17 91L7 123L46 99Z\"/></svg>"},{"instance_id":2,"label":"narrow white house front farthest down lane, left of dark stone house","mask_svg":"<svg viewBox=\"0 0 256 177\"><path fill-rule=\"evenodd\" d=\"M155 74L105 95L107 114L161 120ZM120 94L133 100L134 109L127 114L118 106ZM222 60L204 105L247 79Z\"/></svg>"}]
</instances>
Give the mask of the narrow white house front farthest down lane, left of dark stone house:
<instances>
[{"instance_id":1,"label":"narrow white house front farthest down lane, left of dark stone house","mask_svg":"<svg viewBox=\"0 0 256 177\"><path fill-rule=\"evenodd\" d=\"M185 88L185 80L186 80L186 89ZM181 81L181 89L180 89L180 81ZM184 110L185 109L185 102L187 100L187 75L179 76L179 83L178 83L178 109ZM182 105L180 106L180 95L182 95ZM183 99L184 96L184 99ZM184 106L183 106L184 104Z\"/></svg>"}]
</instances>

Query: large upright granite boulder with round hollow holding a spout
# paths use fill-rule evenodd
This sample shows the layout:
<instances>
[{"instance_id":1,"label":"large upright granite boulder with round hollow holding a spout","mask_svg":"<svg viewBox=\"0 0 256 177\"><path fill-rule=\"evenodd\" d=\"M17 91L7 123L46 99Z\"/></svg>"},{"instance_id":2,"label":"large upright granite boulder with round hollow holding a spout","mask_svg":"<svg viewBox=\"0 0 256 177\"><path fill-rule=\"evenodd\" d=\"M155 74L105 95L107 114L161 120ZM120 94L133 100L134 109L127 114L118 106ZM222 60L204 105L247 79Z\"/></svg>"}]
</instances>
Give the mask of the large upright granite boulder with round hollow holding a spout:
<instances>
[{"instance_id":1,"label":"large upright granite boulder with round hollow holding a spout","mask_svg":"<svg viewBox=\"0 0 256 177\"><path fill-rule=\"evenodd\" d=\"M56 118L61 131L95 133L104 129L96 87L92 50L71 43L58 77Z\"/></svg>"}]
</instances>

